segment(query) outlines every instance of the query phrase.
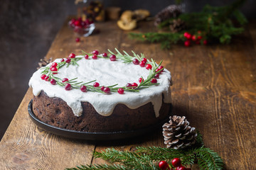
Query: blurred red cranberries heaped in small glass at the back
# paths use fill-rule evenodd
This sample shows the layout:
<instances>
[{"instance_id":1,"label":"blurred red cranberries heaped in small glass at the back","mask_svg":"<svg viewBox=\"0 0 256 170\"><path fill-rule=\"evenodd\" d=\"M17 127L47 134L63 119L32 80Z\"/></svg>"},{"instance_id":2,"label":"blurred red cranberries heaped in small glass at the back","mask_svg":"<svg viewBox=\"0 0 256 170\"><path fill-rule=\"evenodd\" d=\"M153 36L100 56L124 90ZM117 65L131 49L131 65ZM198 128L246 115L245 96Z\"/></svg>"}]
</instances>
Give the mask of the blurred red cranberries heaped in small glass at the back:
<instances>
[{"instance_id":1,"label":"blurred red cranberries heaped in small glass at the back","mask_svg":"<svg viewBox=\"0 0 256 170\"><path fill-rule=\"evenodd\" d=\"M68 22L68 25L70 26L70 28L73 28L75 33L83 35L83 34L87 33L85 28L88 28L90 26L90 24L92 24L92 23L93 23L93 21L90 21L89 19L82 21L82 18L80 17L78 19L72 18Z\"/></svg>"}]
</instances>

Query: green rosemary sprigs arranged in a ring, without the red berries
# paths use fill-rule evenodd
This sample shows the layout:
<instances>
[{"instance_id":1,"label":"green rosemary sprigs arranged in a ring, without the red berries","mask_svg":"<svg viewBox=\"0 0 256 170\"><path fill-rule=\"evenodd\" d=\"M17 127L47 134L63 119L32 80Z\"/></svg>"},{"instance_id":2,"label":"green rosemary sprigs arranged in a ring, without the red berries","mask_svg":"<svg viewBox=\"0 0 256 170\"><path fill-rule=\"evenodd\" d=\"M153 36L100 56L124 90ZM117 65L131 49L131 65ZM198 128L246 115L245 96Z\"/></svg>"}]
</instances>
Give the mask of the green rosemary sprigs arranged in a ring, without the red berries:
<instances>
[{"instance_id":1,"label":"green rosemary sprigs arranged in a ring, without the red berries","mask_svg":"<svg viewBox=\"0 0 256 170\"><path fill-rule=\"evenodd\" d=\"M119 52L119 50L117 50L117 48L115 48L114 50L116 50L116 54L110 50L108 50L110 52L111 55L116 55L117 59L119 60L123 60L124 63L131 63L135 58L137 60L139 60L139 62L142 61L142 59L145 57L144 54L141 53L141 55L137 55L134 51L132 51L132 55L129 55L127 52L123 51L124 54L122 54L121 52ZM89 57L92 57L92 53L87 53L84 52L82 50L82 55L88 55ZM105 58L105 59L110 59L110 55L107 55L107 57L102 57L102 55L97 55L97 57L99 58ZM61 69L62 67L64 67L66 65L66 67L69 67L70 64L79 67L78 61L82 60L83 57L75 57L75 58L70 58L70 62L67 63L65 61L63 62L58 62L57 63L57 69ZM162 61L161 61L162 62ZM139 92L141 89L145 89L148 88L149 86L153 86L153 85L159 85L159 83L151 83L151 79L153 79L155 77L156 74L159 74L159 72L161 72L161 70L159 70L158 72L156 72L156 69L161 65L160 64L156 64L156 62L154 60L147 60L147 64L151 64L152 69L149 70L149 76L146 79L143 79L143 81L138 85L138 86L117 86L118 84L114 84L112 86L107 86L108 88L110 88L110 91L112 92L117 92L117 90L119 88L124 89L124 91L132 91L132 92ZM163 68L164 69L164 68ZM58 84L59 86L65 86L65 84L70 84L71 87L73 89L79 89L80 86L87 86L87 91L95 91L95 92L100 92L100 93L104 93L100 88L102 86L98 86L95 87L93 86L91 83L97 81L97 80L92 80L92 81L88 81L88 82L83 82L83 81L78 81L78 77L70 79L68 81L63 82L62 79L60 79L59 77L57 77L55 75L55 73L58 72L52 72L50 71L50 67L43 67L42 68L42 72L41 74L46 74L46 76L49 77L49 79L55 79L56 84Z\"/></svg>"}]
</instances>

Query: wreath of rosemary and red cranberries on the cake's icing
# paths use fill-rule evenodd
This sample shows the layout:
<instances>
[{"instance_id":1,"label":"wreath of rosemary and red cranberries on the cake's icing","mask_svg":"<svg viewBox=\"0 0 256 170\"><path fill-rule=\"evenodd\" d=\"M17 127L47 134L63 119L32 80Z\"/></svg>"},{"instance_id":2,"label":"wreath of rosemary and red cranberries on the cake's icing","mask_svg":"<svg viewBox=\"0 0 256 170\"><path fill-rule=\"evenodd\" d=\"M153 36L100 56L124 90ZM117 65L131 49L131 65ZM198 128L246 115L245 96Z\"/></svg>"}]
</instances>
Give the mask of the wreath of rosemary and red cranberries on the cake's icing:
<instances>
[{"instance_id":1,"label":"wreath of rosemary and red cranberries on the cake's icing","mask_svg":"<svg viewBox=\"0 0 256 170\"><path fill-rule=\"evenodd\" d=\"M95 91L103 94L110 94L110 92L118 92L119 94L124 94L124 91L134 91L138 92L141 89L148 88L149 86L158 85L157 79L159 78L159 74L163 72L164 67L161 66L161 62L156 64L156 62L151 59L148 60L144 56L144 54L137 55L132 51L133 56L129 55L127 52L123 51L124 54L119 52L117 48L115 48L117 54L108 50L110 53L102 53L99 55L97 50L94 50L90 53L82 51L82 55L76 56L74 53L71 53L67 58L63 58L60 62L53 62L47 67L41 68L43 71L41 72L41 79L45 81L50 81L52 85L63 86L66 91L70 91L71 89L80 89L82 92L86 91ZM139 78L139 84L137 83L127 83L126 86L118 86L118 84L114 84L112 86L100 86L97 80L92 80L88 82L78 81L78 77L74 77L72 79L63 78L60 79L58 77L58 72L62 67L69 67L70 64L73 64L79 67L79 60L97 60L98 58L104 58L110 61L122 60L124 63L133 63L135 65L139 65L140 67L145 67L149 70L149 75L144 79L143 77Z\"/></svg>"}]
</instances>

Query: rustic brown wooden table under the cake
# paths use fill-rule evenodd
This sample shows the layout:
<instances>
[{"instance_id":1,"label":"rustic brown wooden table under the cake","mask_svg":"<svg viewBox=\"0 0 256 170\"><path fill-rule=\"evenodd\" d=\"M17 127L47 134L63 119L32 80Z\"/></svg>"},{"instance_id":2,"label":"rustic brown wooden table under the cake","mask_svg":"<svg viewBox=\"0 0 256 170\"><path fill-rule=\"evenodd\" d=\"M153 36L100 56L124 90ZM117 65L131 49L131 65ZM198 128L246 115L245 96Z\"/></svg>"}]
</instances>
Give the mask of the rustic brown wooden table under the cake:
<instances>
[{"instance_id":1,"label":"rustic brown wooden table under the cake","mask_svg":"<svg viewBox=\"0 0 256 170\"><path fill-rule=\"evenodd\" d=\"M143 52L171 71L174 115L185 115L201 134L206 147L218 152L227 169L256 169L256 24L231 45L174 45L161 50L159 44L137 42L115 22L97 23L100 33L75 42L65 23L47 58L67 57L70 52L107 49ZM134 32L154 30L151 22L139 23ZM31 68L34 69L34 68ZM92 153L115 147L164 146L161 130L136 140L87 142L50 134L28 117L28 89L0 143L0 169L65 169L80 164L102 163Z\"/></svg>"}]
</instances>

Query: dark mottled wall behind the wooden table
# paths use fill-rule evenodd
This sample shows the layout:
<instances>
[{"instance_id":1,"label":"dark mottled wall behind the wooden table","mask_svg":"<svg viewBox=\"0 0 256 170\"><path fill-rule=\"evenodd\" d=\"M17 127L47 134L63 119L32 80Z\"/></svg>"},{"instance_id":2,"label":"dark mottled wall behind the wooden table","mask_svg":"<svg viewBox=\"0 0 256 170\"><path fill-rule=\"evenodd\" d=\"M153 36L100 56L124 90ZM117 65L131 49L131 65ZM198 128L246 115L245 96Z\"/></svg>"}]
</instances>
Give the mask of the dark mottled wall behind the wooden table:
<instances>
[{"instance_id":1,"label":"dark mottled wall behind the wooden table","mask_svg":"<svg viewBox=\"0 0 256 170\"><path fill-rule=\"evenodd\" d=\"M170 0L105 0L105 6L122 10L146 8L154 16L174 4ZM186 0L185 11L200 11L210 4L227 5L232 0ZM248 0L241 10L247 18L256 16L256 1ZM74 0L0 0L0 139L8 128L28 89L28 80L38 67L63 26L65 18L77 13Z\"/></svg>"}]
</instances>

